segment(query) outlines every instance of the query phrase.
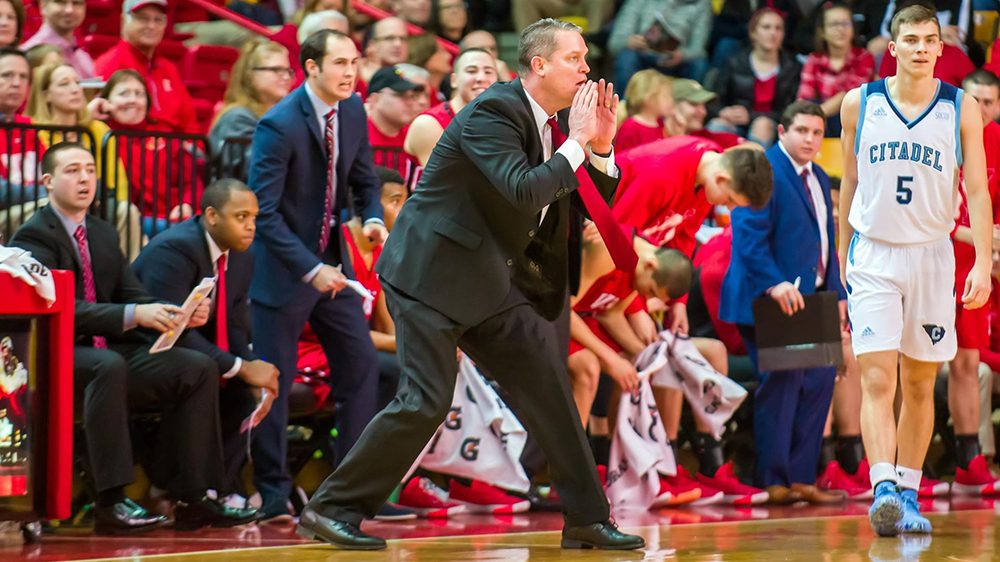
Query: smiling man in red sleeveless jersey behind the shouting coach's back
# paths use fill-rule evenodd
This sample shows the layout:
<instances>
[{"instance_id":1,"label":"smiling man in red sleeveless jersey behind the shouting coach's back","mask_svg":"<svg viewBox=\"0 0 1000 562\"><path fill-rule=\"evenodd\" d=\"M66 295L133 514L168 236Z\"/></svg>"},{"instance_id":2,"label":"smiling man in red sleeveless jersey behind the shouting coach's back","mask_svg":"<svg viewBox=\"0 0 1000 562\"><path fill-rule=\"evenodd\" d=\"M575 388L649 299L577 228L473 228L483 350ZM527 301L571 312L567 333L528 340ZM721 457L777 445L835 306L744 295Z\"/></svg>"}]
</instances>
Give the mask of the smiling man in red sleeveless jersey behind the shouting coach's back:
<instances>
[{"instance_id":1,"label":"smiling man in red sleeveless jersey behind the shouting coach's back","mask_svg":"<svg viewBox=\"0 0 1000 562\"><path fill-rule=\"evenodd\" d=\"M492 55L483 49L463 51L455 59L455 70L451 74L452 98L413 120L403 150L413 155L421 166L426 166L434 145L455 114L496 81L497 65Z\"/></svg>"}]
</instances>

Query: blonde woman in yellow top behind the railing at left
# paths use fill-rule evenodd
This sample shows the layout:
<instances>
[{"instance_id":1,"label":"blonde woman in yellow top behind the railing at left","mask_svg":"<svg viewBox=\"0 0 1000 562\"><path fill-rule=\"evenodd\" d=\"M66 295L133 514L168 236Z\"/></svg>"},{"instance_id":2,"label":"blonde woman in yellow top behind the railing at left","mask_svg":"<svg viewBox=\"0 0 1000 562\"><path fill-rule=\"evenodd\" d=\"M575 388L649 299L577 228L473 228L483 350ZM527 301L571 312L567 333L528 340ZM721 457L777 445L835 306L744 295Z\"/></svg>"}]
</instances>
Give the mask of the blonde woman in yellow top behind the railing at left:
<instances>
[{"instance_id":1,"label":"blonde woman in yellow top behind the railing at left","mask_svg":"<svg viewBox=\"0 0 1000 562\"><path fill-rule=\"evenodd\" d=\"M117 154L114 139L109 139L107 149L102 149L104 135L110 130L107 125L92 119L87 111L87 100L80 86L80 75L65 63L43 64L35 69L28 96L27 115L35 125L58 125L81 127L90 132L77 139L75 133L61 131L39 131L38 138L45 146L58 142L76 141L91 148L97 163L97 179L104 196L102 200L128 201L128 180L121 160L105 162L104 155ZM93 143L93 145L91 144ZM92 148L93 146L93 148ZM106 150L106 151L105 151ZM131 212L126 204L113 204L117 216L118 232L121 236L122 251L129 258L139 255L141 234L139 215L135 207Z\"/></svg>"}]
</instances>

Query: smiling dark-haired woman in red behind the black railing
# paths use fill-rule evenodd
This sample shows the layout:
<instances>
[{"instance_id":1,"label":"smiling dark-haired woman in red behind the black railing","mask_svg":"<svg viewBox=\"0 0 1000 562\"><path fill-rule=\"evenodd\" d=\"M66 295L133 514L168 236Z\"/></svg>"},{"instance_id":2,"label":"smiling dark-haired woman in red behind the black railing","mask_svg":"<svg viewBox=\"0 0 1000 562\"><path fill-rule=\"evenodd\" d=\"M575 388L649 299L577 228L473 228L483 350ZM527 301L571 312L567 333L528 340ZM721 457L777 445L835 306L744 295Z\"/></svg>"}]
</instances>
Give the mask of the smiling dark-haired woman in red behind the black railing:
<instances>
[{"instance_id":1,"label":"smiling dark-haired woman in red behind the black railing","mask_svg":"<svg viewBox=\"0 0 1000 562\"><path fill-rule=\"evenodd\" d=\"M139 207L143 233L152 237L192 216L204 189L202 163L193 147L158 136L172 129L149 118L149 90L142 75L130 69L115 72L99 97L108 102L107 125L112 131L149 135L122 135L115 151L125 164L130 199Z\"/></svg>"}]
</instances>

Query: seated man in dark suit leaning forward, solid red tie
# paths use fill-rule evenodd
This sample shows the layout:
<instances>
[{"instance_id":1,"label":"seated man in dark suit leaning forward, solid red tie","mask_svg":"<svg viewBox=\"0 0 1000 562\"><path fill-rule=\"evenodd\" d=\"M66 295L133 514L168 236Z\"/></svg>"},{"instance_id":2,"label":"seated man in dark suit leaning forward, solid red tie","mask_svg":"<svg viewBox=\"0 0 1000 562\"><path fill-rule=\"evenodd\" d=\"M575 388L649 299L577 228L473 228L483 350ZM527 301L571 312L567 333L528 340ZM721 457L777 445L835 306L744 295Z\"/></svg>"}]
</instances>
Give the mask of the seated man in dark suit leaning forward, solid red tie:
<instances>
[{"instance_id":1,"label":"seated man in dark suit leaning forward, solid red tie","mask_svg":"<svg viewBox=\"0 0 1000 562\"><path fill-rule=\"evenodd\" d=\"M208 323L188 330L177 343L215 360L219 389L225 480L222 494L246 495L240 469L246 460L241 424L261 407L254 422L267 416L278 396L278 369L250 351L250 279L257 221L257 197L235 179L218 180L201 197L201 215L150 241L132 264L153 296L182 304L202 279L215 277L214 306ZM267 394L261 394L266 390Z\"/></svg>"}]
</instances>

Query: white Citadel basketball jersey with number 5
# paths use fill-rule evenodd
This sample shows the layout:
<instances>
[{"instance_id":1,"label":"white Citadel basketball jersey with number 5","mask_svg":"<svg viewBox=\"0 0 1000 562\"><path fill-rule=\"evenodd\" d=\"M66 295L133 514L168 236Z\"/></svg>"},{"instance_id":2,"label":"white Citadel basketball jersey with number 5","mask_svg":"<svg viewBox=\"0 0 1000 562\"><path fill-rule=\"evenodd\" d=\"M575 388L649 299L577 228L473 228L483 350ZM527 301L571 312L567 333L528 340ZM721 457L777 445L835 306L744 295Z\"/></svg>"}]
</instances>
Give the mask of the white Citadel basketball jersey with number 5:
<instances>
[{"instance_id":1,"label":"white Citadel basketball jersey with number 5","mask_svg":"<svg viewBox=\"0 0 1000 562\"><path fill-rule=\"evenodd\" d=\"M962 90L938 80L934 100L910 121L884 79L861 86L858 187L848 216L855 231L894 245L950 236L962 165L961 108Z\"/></svg>"}]
</instances>

